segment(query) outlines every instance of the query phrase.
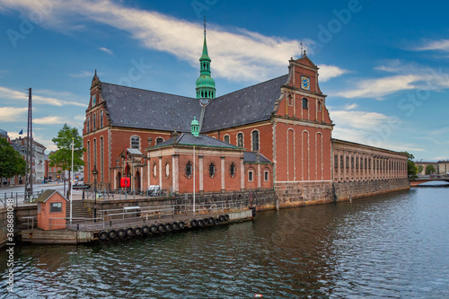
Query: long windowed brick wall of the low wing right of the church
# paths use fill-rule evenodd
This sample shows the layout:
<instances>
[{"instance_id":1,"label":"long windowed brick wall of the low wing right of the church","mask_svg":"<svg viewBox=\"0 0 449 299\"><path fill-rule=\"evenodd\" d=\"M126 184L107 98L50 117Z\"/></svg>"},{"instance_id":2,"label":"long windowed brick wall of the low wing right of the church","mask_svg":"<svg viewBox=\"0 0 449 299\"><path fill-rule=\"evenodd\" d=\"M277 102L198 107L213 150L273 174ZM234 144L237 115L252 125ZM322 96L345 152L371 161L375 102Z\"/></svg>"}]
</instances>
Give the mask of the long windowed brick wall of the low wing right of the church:
<instances>
[{"instance_id":1,"label":"long windowed brick wall of the low wing right of the church","mask_svg":"<svg viewBox=\"0 0 449 299\"><path fill-rule=\"evenodd\" d=\"M333 180L365 181L407 178L407 158L334 149Z\"/></svg>"}]
</instances>

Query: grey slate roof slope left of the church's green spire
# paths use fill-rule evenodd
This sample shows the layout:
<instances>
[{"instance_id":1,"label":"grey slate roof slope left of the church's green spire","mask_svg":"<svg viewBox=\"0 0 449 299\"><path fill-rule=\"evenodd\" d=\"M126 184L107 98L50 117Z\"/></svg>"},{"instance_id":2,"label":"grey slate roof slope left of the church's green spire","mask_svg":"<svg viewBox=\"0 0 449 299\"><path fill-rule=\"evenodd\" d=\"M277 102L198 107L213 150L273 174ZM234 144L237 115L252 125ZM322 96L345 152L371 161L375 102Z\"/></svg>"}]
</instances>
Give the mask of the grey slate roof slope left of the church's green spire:
<instances>
[{"instance_id":1,"label":"grey slate roof slope left of the church's green spire","mask_svg":"<svg viewBox=\"0 0 449 299\"><path fill-rule=\"evenodd\" d=\"M178 132L190 131L190 120L199 119L197 99L164 92L101 83L112 126Z\"/></svg>"}]
</instances>

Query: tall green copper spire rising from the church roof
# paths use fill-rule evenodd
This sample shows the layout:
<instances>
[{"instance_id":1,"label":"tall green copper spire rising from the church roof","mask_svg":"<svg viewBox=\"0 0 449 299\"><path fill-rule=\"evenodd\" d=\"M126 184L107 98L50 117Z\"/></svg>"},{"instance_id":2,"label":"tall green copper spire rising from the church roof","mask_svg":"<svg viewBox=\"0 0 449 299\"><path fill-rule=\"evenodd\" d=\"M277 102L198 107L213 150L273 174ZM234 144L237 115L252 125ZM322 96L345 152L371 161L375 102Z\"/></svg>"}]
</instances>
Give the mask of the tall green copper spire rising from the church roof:
<instances>
[{"instance_id":1,"label":"tall green copper spire rising from the church roof","mask_svg":"<svg viewBox=\"0 0 449 299\"><path fill-rule=\"evenodd\" d=\"M202 105L216 98L216 82L210 76L210 57L207 54L206 19L204 21L203 54L199 57L199 78L197 79L197 99Z\"/></svg>"}]
</instances>

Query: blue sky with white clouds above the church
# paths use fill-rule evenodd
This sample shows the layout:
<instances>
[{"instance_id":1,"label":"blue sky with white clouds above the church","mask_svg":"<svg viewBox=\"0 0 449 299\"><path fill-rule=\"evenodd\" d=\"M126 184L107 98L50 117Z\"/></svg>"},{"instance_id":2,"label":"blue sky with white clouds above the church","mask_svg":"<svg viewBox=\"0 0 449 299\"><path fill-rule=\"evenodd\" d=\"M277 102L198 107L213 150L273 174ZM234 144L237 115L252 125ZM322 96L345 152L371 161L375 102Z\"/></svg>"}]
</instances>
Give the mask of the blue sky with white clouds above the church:
<instances>
[{"instance_id":1,"label":"blue sky with white clouds above the church","mask_svg":"<svg viewBox=\"0 0 449 299\"><path fill-rule=\"evenodd\" d=\"M449 159L449 4L409 1L0 0L0 128L48 150L80 133L92 75L195 96L203 17L216 93L287 73L300 43L320 66L333 137ZM26 133L25 133L26 134Z\"/></svg>"}]
</instances>

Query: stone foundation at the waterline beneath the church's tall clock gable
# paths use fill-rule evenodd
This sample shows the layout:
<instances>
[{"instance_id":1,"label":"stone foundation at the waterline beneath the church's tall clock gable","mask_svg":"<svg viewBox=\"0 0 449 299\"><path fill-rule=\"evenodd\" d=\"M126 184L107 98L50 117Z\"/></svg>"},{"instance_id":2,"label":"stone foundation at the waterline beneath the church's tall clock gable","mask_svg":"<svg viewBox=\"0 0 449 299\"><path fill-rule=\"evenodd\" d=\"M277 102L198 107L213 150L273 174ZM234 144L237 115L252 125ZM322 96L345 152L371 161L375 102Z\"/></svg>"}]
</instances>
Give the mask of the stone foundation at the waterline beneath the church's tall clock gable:
<instances>
[{"instance_id":1,"label":"stone foundation at the waterline beneath the church's tall clock gable","mask_svg":"<svg viewBox=\"0 0 449 299\"><path fill-rule=\"evenodd\" d=\"M326 204L334 201L331 181L288 181L275 183L279 208Z\"/></svg>"}]
</instances>

